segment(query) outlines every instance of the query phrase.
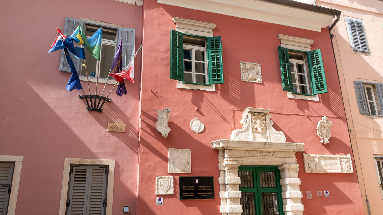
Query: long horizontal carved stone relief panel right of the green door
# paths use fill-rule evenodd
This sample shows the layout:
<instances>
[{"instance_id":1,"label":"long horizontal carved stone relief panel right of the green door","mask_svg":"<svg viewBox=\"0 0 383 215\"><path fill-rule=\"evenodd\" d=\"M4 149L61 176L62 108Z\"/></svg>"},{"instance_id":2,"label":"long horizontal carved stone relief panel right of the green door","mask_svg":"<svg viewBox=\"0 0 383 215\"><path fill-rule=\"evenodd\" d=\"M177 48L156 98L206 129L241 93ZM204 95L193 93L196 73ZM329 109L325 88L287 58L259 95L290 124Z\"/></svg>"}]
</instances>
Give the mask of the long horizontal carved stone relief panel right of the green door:
<instances>
[{"instance_id":1,"label":"long horizontal carved stone relief panel right of the green door","mask_svg":"<svg viewBox=\"0 0 383 215\"><path fill-rule=\"evenodd\" d=\"M303 153L306 173L354 173L350 155L310 155Z\"/></svg>"}]
</instances>

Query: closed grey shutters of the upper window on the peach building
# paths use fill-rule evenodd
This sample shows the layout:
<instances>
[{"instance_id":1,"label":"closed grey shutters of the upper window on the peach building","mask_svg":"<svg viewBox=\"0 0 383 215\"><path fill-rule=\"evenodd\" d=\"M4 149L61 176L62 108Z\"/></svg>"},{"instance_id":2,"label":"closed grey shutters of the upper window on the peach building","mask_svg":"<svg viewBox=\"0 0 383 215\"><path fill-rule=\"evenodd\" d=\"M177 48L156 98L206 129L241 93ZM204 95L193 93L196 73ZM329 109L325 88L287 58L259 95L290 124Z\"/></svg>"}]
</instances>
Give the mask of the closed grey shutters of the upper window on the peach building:
<instances>
[{"instance_id":1,"label":"closed grey shutters of the upper window on the peach building","mask_svg":"<svg viewBox=\"0 0 383 215\"><path fill-rule=\"evenodd\" d=\"M368 52L363 23L355 19L347 19L347 22L349 24L353 50L357 52Z\"/></svg>"}]
</instances>

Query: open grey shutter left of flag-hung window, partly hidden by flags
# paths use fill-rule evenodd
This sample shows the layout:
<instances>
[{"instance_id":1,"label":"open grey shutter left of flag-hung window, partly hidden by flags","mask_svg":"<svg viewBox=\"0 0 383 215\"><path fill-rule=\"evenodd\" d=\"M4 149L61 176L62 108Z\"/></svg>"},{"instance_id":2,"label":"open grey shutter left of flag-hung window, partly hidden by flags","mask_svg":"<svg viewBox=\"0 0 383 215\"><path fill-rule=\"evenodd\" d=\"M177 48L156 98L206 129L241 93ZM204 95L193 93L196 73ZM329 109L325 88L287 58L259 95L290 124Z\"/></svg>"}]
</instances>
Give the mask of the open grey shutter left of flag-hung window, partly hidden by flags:
<instances>
[{"instance_id":1,"label":"open grey shutter left of flag-hung window, partly hidden by flags","mask_svg":"<svg viewBox=\"0 0 383 215\"><path fill-rule=\"evenodd\" d=\"M82 29L84 29L84 21L79 20L79 19L73 19L73 18L65 18L65 26L64 26L64 31L62 31L62 34L65 34L66 36L72 35L74 30L78 27L81 26ZM73 64L76 67L77 73L81 73L81 63L82 59L77 59L72 53L70 53L70 57L72 58ZM60 60L60 71L66 71L66 72L71 72L70 71L70 66L67 62L67 59L65 58L64 55L64 50L61 50L61 60Z\"/></svg>"}]
</instances>

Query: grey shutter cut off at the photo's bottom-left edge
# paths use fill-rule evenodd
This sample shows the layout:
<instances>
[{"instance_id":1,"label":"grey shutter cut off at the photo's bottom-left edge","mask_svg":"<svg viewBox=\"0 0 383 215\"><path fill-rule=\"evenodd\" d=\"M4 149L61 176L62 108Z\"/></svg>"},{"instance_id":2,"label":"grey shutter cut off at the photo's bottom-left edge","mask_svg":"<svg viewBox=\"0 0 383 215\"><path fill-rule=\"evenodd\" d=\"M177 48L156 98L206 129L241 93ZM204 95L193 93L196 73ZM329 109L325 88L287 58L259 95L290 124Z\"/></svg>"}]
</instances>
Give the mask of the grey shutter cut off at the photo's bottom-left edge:
<instances>
[{"instance_id":1,"label":"grey shutter cut off at the photo's bottom-left edge","mask_svg":"<svg viewBox=\"0 0 383 215\"><path fill-rule=\"evenodd\" d=\"M0 163L0 215L6 215L15 163Z\"/></svg>"}]
</instances>

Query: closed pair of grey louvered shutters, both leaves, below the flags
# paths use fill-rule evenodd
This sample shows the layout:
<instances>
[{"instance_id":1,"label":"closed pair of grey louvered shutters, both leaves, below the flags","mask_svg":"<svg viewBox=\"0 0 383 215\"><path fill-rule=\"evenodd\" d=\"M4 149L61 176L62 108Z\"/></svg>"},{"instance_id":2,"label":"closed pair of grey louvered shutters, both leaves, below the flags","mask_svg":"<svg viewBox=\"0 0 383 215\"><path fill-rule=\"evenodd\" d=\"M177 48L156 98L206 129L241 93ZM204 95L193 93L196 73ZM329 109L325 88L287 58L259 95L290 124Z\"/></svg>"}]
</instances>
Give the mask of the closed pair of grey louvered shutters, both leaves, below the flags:
<instances>
[{"instance_id":1,"label":"closed pair of grey louvered shutters, both leaves, below the flags","mask_svg":"<svg viewBox=\"0 0 383 215\"><path fill-rule=\"evenodd\" d=\"M72 168L66 214L105 215L107 167L73 165Z\"/></svg>"}]
</instances>

